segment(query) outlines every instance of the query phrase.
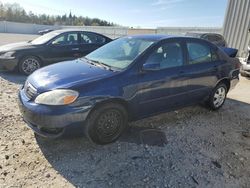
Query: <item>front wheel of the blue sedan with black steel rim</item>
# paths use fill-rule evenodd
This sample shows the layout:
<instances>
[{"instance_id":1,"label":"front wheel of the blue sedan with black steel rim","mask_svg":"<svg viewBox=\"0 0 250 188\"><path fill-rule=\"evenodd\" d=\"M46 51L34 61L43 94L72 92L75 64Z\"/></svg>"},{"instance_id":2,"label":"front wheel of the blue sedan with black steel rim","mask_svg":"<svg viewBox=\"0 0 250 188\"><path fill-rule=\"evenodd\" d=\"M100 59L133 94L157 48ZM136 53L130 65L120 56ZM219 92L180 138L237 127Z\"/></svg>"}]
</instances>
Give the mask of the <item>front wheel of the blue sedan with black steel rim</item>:
<instances>
[{"instance_id":1,"label":"front wheel of the blue sedan with black steel rim","mask_svg":"<svg viewBox=\"0 0 250 188\"><path fill-rule=\"evenodd\" d=\"M127 125L128 115L123 106L105 104L91 112L86 121L85 134L93 143L105 145L116 141Z\"/></svg>"}]
</instances>

